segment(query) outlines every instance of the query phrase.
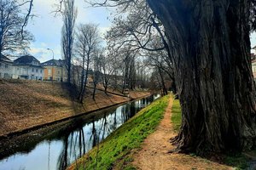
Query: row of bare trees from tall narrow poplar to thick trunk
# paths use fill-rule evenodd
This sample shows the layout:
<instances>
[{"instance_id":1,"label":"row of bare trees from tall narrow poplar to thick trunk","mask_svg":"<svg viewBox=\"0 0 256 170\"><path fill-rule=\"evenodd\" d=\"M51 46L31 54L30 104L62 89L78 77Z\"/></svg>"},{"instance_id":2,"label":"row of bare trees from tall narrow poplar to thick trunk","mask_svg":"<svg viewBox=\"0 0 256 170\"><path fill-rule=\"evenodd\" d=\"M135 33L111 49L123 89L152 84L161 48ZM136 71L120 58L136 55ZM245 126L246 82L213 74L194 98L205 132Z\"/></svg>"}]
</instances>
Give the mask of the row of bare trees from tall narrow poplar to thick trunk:
<instances>
[{"instance_id":1,"label":"row of bare trees from tall narrow poplar to thick trunk","mask_svg":"<svg viewBox=\"0 0 256 170\"><path fill-rule=\"evenodd\" d=\"M79 26L75 26L77 9L74 7L74 0L63 1L62 5L64 7L62 13L64 25L62 28L61 44L67 65L67 81L70 84L73 83L71 78L73 61L73 63L79 65L81 70L79 72L79 81L73 83L78 89L78 99L81 103L84 101L84 95L87 94L86 85L88 84L89 72L93 77L92 99L95 99L96 87L99 82L101 82L106 94L109 85L112 85L113 90L119 89L121 93L125 93L126 88L148 88L150 73L145 74L143 69L147 70L152 65L154 66L154 70L159 73L160 78L156 79L157 83L152 82L155 86L151 86L151 88L160 87L163 89L163 93L167 94L166 77L163 72L170 70L170 68L165 67L166 65L171 65L169 60L166 59L166 63L159 61L153 64L153 58L147 59L146 61L142 57L143 55L155 56L156 53L153 54L153 52L160 50L155 49L161 43L160 37L156 37L156 34L151 35L151 32L146 32L146 37L149 36L148 41L151 41L150 45L155 45L156 47L153 47L151 50L146 45L136 47L131 42L136 41L137 44L140 44L141 40L139 38L144 38L137 37L135 33L136 29L137 31L141 31L140 23L137 24L137 27L134 26L133 31L131 29L127 30L127 27L122 25L127 21L131 23L136 22L136 14L134 14L136 10L130 14L133 17L132 20L129 17L127 20L115 20L111 31L108 31L106 36L108 46L107 48L102 48L102 38L95 24L80 24ZM145 11L148 12L148 10ZM145 17L148 17L148 14L143 15L143 18L139 21L143 21ZM152 22L147 22L146 24L152 25ZM124 37L124 33L126 34L127 32L132 32L130 36L133 36L136 40L131 40L130 42L125 41L124 39L126 37ZM157 41L156 44L153 43L154 41ZM166 55L166 48L161 48L161 52L161 54ZM157 56L155 57L158 58Z\"/></svg>"}]
</instances>

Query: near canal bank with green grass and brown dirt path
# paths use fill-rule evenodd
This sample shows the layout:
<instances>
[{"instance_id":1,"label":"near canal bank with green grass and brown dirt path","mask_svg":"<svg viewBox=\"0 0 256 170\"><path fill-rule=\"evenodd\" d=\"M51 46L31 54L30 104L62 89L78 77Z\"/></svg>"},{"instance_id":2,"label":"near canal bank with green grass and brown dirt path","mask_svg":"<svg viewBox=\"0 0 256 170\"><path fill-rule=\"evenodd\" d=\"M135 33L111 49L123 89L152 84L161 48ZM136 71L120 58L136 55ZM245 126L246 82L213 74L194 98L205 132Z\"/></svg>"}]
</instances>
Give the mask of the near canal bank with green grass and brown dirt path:
<instances>
[{"instance_id":1,"label":"near canal bank with green grass and brown dirt path","mask_svg":"<svg viewBox=\"0 0 256 170\"><path fill-rule=\"evenodd\" d=\"M255 169L255 150L212 157L172 152L181 119L177 99L158 99L67 169Z\"/></svg>"}]
</instances>

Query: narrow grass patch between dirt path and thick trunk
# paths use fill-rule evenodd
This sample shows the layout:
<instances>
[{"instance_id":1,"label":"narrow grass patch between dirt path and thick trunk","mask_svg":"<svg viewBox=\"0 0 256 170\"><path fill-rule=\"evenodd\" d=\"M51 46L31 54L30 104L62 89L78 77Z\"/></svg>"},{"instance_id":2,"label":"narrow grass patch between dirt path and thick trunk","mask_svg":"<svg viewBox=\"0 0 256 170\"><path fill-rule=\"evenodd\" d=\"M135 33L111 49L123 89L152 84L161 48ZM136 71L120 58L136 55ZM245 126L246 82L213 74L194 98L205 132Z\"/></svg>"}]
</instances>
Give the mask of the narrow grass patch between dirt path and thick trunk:
<instances>
[{"instance_id":1,"label":"narrow grass patch between dirt path and thick trunk","mask_svg":"<svg viewBox=\"0 0 256 170\"><path fill-rule=\"evenodd\" d=\"M171 120L172 120L173 130L175 132L178 132L182 122L181 107L178 99L173 100Z\"/></svg>"}]
</instances>

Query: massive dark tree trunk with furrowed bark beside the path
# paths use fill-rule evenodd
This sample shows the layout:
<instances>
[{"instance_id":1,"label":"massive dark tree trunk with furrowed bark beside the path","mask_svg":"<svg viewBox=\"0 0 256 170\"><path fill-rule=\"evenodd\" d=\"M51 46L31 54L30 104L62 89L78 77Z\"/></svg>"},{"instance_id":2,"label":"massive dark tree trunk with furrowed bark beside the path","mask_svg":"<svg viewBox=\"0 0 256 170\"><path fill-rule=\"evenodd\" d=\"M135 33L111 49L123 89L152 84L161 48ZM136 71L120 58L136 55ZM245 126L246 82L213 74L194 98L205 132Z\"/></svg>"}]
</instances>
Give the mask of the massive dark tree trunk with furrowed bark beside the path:
<instances>
[{"instance_id":1,"label":"massive dark tree trunk with furrowed bark beside the path","mask_svg":"<svg viewBox=\"0 0 256 170\"><path fill-rule=\"evenodd\" d=\"M256 142L248 0L147 0L165 26L183 122L181 151L245 150Z\"/></svg>"}]
</instances>

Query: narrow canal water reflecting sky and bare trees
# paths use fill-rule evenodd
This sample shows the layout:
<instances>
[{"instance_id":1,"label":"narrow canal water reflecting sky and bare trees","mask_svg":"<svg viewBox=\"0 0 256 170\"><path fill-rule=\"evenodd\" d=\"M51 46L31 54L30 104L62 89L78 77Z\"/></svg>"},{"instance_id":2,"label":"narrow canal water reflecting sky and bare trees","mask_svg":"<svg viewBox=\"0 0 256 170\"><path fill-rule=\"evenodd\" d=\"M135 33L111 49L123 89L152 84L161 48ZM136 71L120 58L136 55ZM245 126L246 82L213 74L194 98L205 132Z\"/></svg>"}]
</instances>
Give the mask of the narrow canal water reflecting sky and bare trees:
<instances>
[{"instance_id":1,"label":"narrow canal water reflecting sky and bare trees","mask_svg":"<svg viewBox=\"0 0 256 170\"><path fill-rule=\"evenodd\" d=\"M0 170L65 169L160 95L0 141Z\"/></svg>"}]
</instances>

